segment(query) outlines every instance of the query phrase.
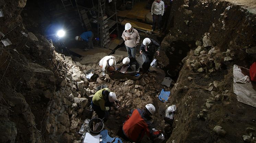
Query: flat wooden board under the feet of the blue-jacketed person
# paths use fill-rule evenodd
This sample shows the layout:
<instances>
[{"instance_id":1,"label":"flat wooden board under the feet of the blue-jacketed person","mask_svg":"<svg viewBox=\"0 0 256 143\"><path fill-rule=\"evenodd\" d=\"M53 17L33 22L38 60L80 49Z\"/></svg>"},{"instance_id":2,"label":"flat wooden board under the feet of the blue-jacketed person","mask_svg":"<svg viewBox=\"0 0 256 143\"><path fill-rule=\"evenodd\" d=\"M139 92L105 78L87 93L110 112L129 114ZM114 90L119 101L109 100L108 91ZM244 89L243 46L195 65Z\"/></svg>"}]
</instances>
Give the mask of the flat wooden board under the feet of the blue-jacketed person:
<instances>
[{"instance_id":1,"label":"flat wooden board under the feet of the blue-jacketed person","mask_svg":"<svg viewBox=\"0 0 256 143\"><path fill-rule=\"evenodd\" d=\"M94 49L90 49L89 51L83 51L83 49L80 49L80 48L72 48L69 50L83 57L85 57L86 55L94 55L96 53L107 53L109 55L112 52L112 50L110 49L99 48L95 46L94 46Z\"/></svg>"}]
</instances>

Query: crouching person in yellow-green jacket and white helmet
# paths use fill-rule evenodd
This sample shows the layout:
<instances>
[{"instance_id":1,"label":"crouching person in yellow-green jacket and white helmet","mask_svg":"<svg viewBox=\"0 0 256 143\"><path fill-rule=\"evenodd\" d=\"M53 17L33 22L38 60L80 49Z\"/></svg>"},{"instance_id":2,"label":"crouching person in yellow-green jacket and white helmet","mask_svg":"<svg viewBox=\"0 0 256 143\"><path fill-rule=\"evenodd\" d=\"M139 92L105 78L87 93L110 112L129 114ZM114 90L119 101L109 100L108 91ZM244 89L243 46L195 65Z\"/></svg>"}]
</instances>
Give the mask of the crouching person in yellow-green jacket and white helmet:
<instances>
[{"instance_id":1,"label":"crouching person in yellow-green jacket and white helmet","mask_svg":"<svg viewBox=\"0 0 256 143\"><path fill-rule=\"evenodd\" d=\"M120 106L116 94L111 92L108 88L103 88L94 94L91 105L93 111L98 115L98 118L104 118L103 120L106 121L108 119L109 111L113 109L115 102Z\"/></svg>"}]
</instances>

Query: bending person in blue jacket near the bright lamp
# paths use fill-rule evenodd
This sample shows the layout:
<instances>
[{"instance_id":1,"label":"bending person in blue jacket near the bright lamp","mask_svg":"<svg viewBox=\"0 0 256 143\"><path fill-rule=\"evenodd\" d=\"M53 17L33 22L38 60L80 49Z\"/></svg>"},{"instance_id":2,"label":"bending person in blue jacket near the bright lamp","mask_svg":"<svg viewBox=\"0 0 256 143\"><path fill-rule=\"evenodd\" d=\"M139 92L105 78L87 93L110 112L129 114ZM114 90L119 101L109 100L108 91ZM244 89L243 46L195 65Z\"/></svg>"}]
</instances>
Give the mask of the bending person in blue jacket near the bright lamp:
<instances>
[{"instance_id":1,"label":"bending person in blue jacket near the bright lamp","mask_svg":"<svg viewBox=\"0 0 256 143\"><path fill-rule=\"evenodd\" d=\"M92 31L83 32L80 36L75 37L75 40L85 41L87 43L88 48L84 48L85 51L88 51L89 49L94 49L92 39L93 39Z\"/></svg>"}]
</instances>

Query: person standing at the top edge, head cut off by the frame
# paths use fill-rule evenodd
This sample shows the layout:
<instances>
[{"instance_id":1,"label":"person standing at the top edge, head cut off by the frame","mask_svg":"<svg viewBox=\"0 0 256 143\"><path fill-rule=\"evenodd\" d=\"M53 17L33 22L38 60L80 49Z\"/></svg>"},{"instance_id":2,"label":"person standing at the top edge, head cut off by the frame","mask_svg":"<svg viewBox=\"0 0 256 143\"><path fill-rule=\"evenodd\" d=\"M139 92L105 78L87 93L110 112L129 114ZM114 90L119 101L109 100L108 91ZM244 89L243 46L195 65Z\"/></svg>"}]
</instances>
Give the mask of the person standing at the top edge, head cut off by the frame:
<instances>
[{"instance_id":1,"label":"person standing at the top edge, head cut off by the frame","mask_svg":"<svg viewBox=\"0 0 256 143\"><path fill-rule=\"evenodd\" d=\"M151 14L153 16L152 32L155 30L155 24L158 23L158 33L161 30L162 16L164 15L164 2L155 0L151 6Z\"/></svg>"}]
</instances>

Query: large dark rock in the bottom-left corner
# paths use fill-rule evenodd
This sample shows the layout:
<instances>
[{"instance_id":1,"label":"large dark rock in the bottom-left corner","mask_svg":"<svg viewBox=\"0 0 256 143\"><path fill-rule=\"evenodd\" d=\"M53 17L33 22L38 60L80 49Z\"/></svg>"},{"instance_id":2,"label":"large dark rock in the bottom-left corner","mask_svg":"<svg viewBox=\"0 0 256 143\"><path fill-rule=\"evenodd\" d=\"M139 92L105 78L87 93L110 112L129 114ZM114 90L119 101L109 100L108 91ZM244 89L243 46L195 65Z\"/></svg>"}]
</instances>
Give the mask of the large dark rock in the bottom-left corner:
<instances>
[{"instance_id":1,"label":"large dark rock in the bottom-left corner","mask_svg":"<svg viewBox=\"0 0 256 143\"><path fill-rule=\"evenodd\" d=\"M17 135L15 123L8 118L0 118L0 128L0 142L14 143Z\"/></svg>"}]
</instances>

